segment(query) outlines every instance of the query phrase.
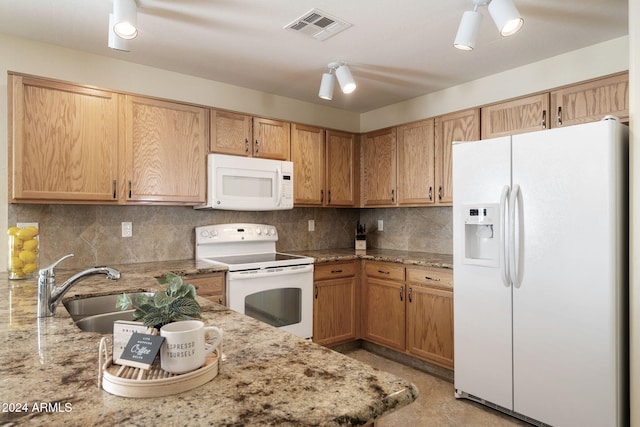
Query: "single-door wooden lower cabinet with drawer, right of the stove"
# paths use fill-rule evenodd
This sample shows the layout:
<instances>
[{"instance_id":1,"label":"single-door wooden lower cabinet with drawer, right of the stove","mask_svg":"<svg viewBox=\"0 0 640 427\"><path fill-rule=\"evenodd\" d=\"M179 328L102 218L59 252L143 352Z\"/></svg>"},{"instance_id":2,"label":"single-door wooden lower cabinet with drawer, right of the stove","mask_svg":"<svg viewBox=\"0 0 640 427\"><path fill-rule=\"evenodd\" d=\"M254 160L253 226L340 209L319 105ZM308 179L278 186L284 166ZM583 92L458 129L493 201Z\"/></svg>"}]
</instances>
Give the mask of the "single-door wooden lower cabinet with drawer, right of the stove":
<instances>
[{"instance_id":1,"label":"single-door wooden lower cabinet with drawer, right of the stove","mask_svg":"<svg viewBox=\"0 0 640 427\"><path fill-rule=\"evenodd\" d=\"M357 260L316 265L313 341L336 345L356 339Z\"/></svg>"}]
</instances>

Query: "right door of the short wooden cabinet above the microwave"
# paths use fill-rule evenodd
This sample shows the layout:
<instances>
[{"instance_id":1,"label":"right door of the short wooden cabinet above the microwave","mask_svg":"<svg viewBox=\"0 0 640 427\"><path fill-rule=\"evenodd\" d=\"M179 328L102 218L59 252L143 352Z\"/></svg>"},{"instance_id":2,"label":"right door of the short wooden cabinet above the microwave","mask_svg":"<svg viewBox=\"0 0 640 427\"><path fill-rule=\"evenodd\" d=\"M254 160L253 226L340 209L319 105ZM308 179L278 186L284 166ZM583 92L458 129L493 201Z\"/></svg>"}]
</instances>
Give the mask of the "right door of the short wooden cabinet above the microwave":
<instances>
[{"instance_id":1,"label":"right door of the short wooden cabinet above the microwave","mask_svg":"<svg viewBox=\"0 0 640 427\"><path fill-rule=\"evenodd\" d=\"M266 159L291 158L291 125L278 120L253 118L253 155Z\"/></svg>"}]
</instances>

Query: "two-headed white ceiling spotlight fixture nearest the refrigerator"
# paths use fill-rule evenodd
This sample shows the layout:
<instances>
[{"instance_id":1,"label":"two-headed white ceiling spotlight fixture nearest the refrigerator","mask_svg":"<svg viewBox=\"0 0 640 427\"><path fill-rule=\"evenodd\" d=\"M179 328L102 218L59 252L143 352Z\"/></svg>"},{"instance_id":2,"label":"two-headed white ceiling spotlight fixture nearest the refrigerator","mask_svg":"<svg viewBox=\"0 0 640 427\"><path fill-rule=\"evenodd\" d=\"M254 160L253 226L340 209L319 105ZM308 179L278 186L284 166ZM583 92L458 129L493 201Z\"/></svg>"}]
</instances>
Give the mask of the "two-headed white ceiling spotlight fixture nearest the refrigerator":
<instances>
[{"instance_id":1,"label":"two-headed white ceiling spotlight fixture nearest the refrigerator","mask_svg":"<svg viewBox=\"0 0 640 427\"><path fill-rule=\"evenodd\" d=\"M473 50L482 24L482 14L478 7L489 5L489 14L495 22L500 35L510 36L517 33L524 19L512 0L473 0L473 11L466 11L460 20L453 46L461 50Z\"/></svg>"}]
</instances>

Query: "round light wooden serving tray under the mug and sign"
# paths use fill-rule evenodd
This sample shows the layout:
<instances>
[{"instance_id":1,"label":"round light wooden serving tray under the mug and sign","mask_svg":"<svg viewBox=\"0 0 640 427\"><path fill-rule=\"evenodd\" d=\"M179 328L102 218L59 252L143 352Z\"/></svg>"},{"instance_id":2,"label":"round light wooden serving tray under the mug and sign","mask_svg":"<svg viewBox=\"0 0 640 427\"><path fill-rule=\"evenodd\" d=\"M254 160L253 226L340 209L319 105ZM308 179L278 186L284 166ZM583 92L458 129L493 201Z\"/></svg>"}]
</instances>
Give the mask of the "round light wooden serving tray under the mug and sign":
<instances>
[{"instance_id":1,"label":"round light wooden serving tray under the mug and sign","mask_svg":"<svg viewBox=\"0 0 640 427\"><path fill-rule=\"evenodd\" d=\"M116 365L109 355L106 337L100 340L98 387L122 397L160 397L199 387L218 375L220 349L209 354L204 365L185 374L170 374L153 365L150 369Z\"/></svg>"}]
</instances>

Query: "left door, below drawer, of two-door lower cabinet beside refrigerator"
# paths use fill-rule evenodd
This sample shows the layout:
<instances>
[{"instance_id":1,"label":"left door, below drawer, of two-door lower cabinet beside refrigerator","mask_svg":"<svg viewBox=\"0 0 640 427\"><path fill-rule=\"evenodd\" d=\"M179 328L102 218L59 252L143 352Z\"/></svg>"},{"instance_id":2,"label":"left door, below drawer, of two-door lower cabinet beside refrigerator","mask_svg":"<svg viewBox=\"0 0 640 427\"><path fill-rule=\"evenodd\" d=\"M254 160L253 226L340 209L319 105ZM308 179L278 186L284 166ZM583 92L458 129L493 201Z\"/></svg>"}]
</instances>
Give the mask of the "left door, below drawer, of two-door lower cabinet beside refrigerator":
<instances>
[{"instance_id":1,"label":"left door, below drawer, of two-door lower cabinet beside refrigerator","mask_svg":"<svg viewBox=\"0 0 640 427\"><path fill-rule=\"evenodd\" d=\"M404 351L405 289L402 282L367 277L364 294L364 338Z\"/></svg>"}]
</instances>

